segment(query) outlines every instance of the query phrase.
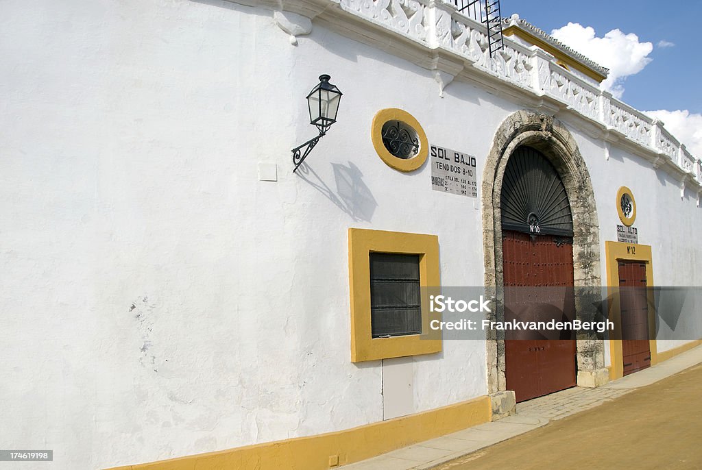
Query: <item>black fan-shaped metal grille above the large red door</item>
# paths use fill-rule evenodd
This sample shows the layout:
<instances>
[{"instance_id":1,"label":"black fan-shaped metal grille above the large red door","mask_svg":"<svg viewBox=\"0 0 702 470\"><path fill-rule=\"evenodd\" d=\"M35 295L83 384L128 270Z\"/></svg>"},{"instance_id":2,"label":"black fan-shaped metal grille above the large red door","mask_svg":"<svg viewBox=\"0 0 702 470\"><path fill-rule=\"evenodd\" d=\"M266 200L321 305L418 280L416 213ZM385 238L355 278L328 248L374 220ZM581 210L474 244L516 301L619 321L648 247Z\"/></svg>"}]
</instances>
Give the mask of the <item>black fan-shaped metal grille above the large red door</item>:
<instances>
[{"instance_id":1,"label":"black fan-shaped metal grille above the large red door","mask_svg":"<svg viewBox=\"0 0 702 470\"><path fill-rule=\"evenodd\" d=\"M519 147L510 156L500 207L505 230L573 236L563 182L545 156L531 147Z\"/></svg>"}]
</instances>

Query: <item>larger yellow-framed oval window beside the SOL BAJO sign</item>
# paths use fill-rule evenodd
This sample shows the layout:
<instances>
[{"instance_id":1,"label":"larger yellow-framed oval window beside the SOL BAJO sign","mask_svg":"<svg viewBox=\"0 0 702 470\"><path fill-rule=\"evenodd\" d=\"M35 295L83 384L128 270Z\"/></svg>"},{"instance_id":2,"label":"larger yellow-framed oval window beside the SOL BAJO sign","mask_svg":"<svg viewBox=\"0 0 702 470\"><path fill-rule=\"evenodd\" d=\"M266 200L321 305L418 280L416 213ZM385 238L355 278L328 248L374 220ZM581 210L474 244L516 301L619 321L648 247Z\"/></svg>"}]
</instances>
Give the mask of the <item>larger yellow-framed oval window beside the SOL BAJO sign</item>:
<instances>
[{"instance_id":1,"label":"larger yellow-framed oval window beside the SOL BAJO sign","mask_svg":"<svg viewBox=\"0 0 702 470\"><path fill-rule=\"evenodd\" d=\"M427 161L427 135L419 121L402 109L380 109L373 117L371 139L380 159L395 170L414 171Z\"/></svg>"}]
</instances>

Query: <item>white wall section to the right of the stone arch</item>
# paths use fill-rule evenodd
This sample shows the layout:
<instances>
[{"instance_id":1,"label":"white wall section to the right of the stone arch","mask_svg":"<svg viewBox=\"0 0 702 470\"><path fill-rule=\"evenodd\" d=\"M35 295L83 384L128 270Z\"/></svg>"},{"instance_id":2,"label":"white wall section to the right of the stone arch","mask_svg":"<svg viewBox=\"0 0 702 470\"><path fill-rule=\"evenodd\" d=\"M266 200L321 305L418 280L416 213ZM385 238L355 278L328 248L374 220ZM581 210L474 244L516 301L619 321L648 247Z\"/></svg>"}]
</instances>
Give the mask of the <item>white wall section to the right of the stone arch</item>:
<instances>
[{"instance_id":1,"label":"white wall section to the right of the stone arch","mask_svg":"<svg viewBox=\"0 0 702 470\"><path fill-rule=\"evenodd\" d=\"M697 206L696 194L685 189L681 197L680 180L662 170L654 170L649 161L616 145L609 144L609 152L605 152L601 140L576 128L572 132L588 164L597 200L603 284L607 281L604 242L617 240L616 225L621 221L616 211L616 194L619 187L626 186L636 199L637 215L633 226L638 229L639 243L651 246L654 279L652 283L649 280L649 285L696 287L687 293L687 302L682 304L682 323L675 325L675 332L671 331L670 325L658 325L658 338L661 338L658 351L668 351L699 339L702 337L702 323L697 320L696 298L702 285L698 270L702 250L696 243L689 243L702 228L702 209ZM669 306L661 304L661 308L665 307ZM684 338L684 341L675 338ZM609 364L609 344L605 346Z\"/></svg>"}]
</instances>

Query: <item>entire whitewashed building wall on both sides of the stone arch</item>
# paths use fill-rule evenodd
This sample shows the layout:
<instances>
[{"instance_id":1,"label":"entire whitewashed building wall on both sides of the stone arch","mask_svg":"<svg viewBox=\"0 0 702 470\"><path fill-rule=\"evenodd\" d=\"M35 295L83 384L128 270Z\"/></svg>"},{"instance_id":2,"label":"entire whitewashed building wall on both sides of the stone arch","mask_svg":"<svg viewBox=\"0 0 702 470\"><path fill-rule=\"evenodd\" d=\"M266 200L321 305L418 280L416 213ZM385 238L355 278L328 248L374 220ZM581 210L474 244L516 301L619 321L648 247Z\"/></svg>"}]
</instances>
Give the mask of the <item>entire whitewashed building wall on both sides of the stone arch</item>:
<instances>
[{"instance_id":1,"label":"entire whitewashed building wall on both sides of the stone arch","mask_svg":"<svg viewBox=\"0 0 702 470\"><path fill-rule=\"evenodd\" d=\"M371 120L405 109L477 156L480 185L520 106L458 82L439 98L427 70L319 25L298 41L272 11L220 1L0 4L5 448L96 468L379 421L380 361L350 363L349 227L437 234L442 283L482 285L479 201L432 191L428 165L385 166ZM344 93L338 123L293 175L322 73ZM656 283L699 283L698 248L661 229L696 233L694 197L574 132L602 241L626 184ZM485 376L484 344L445 342L413 364L414 410L484 395Z\"/></svg>"}]
</instances>

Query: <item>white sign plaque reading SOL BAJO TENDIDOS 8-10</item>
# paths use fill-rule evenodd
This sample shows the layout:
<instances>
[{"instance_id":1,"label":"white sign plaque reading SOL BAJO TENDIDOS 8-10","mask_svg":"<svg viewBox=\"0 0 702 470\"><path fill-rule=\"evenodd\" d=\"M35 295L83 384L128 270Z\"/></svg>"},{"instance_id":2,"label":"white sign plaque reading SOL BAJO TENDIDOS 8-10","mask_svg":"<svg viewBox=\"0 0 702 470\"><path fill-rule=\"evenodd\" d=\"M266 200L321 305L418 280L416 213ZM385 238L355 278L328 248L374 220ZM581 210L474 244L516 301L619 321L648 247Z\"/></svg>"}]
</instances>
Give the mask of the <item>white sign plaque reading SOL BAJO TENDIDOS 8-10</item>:
<instances>
[{"instance_id":1,"label":"white sign plaque reading SOL BAJO TENDIDOS 8-10","mask_svg":"<svg viewBox=\"0 0 702 470\"><path fill-rule=\"evenodd\" d=\"M438 145L431 145L430 153L432 156L432 189L477 198L475 156Z\"/></svg>"}]
</instances>

